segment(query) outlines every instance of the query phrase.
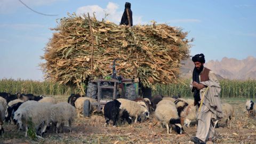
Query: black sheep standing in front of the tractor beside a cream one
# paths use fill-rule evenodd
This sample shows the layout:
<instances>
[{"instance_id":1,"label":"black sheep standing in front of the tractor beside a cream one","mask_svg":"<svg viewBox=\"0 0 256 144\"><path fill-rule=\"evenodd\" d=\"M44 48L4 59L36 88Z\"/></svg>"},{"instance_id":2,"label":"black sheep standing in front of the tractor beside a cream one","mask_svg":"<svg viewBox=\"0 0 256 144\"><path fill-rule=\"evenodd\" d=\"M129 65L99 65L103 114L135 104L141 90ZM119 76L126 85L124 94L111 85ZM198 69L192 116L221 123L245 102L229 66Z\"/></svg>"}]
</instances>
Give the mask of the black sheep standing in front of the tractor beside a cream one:
<instances>
[{"instance_id":1,"label":"black sheep standing in front of the tractor beside a cream one","mask_svg":"<svg viewBox=\"0 0 256 144\"><path fill-rule=\"evenodd\" d=\"M121 106L121 102L118 100L109 101L104 106L104 116L106 119L106 124L108 125L109 121L113 121L113 126L116 125L116 122L119 119L119 107Z\"/></svg>"}]
</instances>

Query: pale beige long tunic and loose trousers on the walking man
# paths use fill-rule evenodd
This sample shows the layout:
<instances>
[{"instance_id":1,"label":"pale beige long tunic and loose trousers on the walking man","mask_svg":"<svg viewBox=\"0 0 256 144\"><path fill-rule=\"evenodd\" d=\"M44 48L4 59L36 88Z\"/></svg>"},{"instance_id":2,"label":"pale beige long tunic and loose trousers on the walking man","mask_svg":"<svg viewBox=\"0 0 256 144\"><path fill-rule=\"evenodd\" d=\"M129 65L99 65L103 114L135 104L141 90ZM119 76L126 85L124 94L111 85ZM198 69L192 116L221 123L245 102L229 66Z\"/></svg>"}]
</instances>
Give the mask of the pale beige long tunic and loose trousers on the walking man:
<instances>
[{"instance_id":1,"label":"pale beige long tunic and loose trousers on the walking man","mask_svg":"<svg viewBox=\"0 0 256 144\"><path fill-rule=\"evenodd\" d=\"M203 72L203 71L202 71ZM202 73L201 73L202 74ZM212 138L214 135L214 123L222 118L222 109L220 103L220 83L213 73L213 71L209 71L209 81L201 82L200 76L199 80L200 83L209 87L207 92L205 93L203 105L201 107L201 111L198 112L197 107L197 133L196 137L199 138L201 141L205 141L207 138ZM192 89L193 80L191 80L190 88ZM200 97L202 99L202 95L205 92L206 87L200 90Z\"/></svg>"}]
</instances>

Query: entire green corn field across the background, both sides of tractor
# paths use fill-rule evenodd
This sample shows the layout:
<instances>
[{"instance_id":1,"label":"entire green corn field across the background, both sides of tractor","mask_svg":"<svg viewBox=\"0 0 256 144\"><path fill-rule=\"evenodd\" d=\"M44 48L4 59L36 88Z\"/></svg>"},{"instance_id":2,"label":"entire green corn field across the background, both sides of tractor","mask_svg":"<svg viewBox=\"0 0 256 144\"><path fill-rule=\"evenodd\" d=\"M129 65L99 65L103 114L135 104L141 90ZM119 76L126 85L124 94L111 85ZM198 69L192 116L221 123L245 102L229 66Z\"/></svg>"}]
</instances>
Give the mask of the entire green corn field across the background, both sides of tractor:
<instances>
[{"instance_id":1,"label":"entire green corn field across the background, both sides of tractor","mask_svg":"<svg viewBox=\"0 0 256 144\"><path fill-rule=\"evenodd\" d=\"M156 85L154 94L164 96L180 95L181 97L193 97L189 88L190 79L180 81L178 84ZM224 79L220 81L221 98L256 98L256 80L238 81ZM69 95L79 92L76 87L54 84L48 81L39 82L32 80L0 79L0 92L33 93L45 95Z\"/></svg>"}]
</instances>

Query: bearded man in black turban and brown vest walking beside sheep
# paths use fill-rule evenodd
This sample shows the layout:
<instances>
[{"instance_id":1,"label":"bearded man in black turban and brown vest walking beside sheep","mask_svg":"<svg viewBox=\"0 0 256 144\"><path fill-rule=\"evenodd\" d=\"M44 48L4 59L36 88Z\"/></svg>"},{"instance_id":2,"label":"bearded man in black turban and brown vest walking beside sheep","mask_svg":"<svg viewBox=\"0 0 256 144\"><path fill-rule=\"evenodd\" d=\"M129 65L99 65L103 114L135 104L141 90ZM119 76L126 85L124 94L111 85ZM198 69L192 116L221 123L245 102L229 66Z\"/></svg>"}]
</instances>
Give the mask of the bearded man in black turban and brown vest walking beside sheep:
<instances>
[{"instance_id":1,"label":"bearded man in black turban and brown vest walking beside sheep","mask_svg":"<svg viewBox=\"0 0 256 144\"><path fill-rule=\"evenodd\" d=\"M220 83L212 70L204 67L204 54L196 54L192 61L195 64L190 88L194 92L194 105L197 109L197 133L192 137L194 143L213 143L214 125L222 117L220 103Z\"/></svg>"}]
</instances>

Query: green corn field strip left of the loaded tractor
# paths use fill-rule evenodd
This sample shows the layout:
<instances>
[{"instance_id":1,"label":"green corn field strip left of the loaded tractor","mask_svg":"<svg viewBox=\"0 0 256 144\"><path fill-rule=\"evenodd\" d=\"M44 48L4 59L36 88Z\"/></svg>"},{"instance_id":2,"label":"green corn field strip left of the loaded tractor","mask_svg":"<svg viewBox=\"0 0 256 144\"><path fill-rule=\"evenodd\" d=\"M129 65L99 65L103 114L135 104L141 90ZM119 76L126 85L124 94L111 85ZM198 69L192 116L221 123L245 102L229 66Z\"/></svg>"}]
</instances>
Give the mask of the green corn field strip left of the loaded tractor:
<instances>
[{"instance_id":1,"label":"green corn field strip left of the loaded tractor","mask_svg":"<svg viewBox=\"0 0 256 144\"><path fill-rule=\"evenodd\" d=\"M76 93L77 90L74 87L47 81L0 79L0 92L9 92L12 94L20 92L44 95L69 95L70 93Z\"/></svg>"}]
</instances>

